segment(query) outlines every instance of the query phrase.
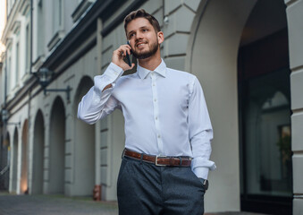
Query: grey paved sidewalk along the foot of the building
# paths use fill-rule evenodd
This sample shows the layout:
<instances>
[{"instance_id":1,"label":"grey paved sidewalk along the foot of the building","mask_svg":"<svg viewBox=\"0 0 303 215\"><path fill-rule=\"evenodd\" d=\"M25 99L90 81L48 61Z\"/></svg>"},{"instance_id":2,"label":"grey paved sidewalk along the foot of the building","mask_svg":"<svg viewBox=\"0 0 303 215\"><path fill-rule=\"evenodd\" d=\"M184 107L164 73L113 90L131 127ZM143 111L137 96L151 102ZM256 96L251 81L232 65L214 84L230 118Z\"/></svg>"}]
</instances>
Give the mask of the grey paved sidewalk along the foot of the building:
<instances>
[{"instance_id":1,"label":"grey paved sidewalk along the foot of the building","mask_svg":"<svg viewBox=\"0 0 303 215\"><path fill-rule=\"evenodd\" d=\"M118 206L116 202L94 202L91 198L71 198L63 195L14 195L9 193L0 193L0 215L57 214L118 215ZM205 215L261 214L248 212L220 212L206 213Z\"/></svg>"}]
</instances>

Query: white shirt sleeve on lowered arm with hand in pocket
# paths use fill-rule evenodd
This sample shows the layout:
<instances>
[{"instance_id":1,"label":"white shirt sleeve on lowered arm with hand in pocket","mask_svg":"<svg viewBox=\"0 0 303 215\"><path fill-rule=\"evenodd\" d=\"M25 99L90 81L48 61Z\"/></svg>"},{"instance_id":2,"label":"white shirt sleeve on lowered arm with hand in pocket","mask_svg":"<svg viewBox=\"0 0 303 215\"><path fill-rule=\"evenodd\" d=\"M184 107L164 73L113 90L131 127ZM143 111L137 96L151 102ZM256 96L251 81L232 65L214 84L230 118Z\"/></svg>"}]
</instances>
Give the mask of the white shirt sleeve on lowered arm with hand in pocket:
<instances>
[{"instance_id":1,"label":"white shirt sleeve on lowered arm with hand in pocket","mask_svg":"<svg viewBox=\"0 0 303 215\"><path fill-rule=\"evenodd\" d=\"M198 177L207 179L209 169L215 169L215 162L209 160L212 151L213 128L206 107L206 99L195 76L190 84L189 97L189 142L193 160L191 169Z\"/></svg>"}]
</instances>

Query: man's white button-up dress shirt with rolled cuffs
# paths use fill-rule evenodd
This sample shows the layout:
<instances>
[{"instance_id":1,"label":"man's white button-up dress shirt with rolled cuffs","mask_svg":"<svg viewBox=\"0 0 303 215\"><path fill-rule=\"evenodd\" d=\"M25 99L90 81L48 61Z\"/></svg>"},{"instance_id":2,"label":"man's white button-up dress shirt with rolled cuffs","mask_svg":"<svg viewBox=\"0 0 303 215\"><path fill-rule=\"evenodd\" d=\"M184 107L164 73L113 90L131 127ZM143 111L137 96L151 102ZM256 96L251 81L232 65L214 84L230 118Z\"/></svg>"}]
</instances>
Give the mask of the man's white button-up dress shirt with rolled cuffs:
<instances>
[{"instance_id":1,"label":"man's white button-up dress shirt with rolled cuffs","mask_svg":"<svg viewBox=\"0 0 303 215\"><path fill-rule=\"evenodd\" d=\"M122 68L111 63L80 101L78 117L94 124L120 108L127 149L192 157L193 172L206 179L215 169L209 160L213 129L197 77L167 68L163 60L155 71L139 64L137 69L122 76ZM113 87L104 90L108 84Z\"/></svg>"}]
</instances>

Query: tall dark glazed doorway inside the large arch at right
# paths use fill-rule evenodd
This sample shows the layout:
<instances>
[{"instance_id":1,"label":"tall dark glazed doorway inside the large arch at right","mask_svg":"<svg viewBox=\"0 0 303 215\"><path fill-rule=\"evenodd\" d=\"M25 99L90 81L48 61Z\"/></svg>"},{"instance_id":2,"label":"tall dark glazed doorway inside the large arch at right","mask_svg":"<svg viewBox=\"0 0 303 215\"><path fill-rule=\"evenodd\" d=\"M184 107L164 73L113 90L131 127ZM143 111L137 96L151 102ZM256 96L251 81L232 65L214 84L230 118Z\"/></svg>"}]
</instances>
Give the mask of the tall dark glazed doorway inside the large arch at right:
<instances>
[{"instance_id":1,"label":"tall dark glazed doorway inside the large arch at right","mask_svg":"<svg viewBox=\"0 0 303 215\"><path fill-rule=\"evenodd\" d=\"M286 6L257 1L238 57L241 211L291 214L290 69Z\"/></svg>"}]
</instances>

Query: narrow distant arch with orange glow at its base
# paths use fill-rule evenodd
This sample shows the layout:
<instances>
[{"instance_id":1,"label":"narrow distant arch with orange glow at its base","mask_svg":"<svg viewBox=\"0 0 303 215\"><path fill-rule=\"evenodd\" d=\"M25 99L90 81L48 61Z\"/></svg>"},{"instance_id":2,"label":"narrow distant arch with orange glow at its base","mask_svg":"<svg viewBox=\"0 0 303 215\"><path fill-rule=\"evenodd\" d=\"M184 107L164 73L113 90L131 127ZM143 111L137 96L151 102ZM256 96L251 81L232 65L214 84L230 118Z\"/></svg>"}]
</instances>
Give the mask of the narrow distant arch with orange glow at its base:
<instances>
[{"instance_id":1,"label":"narrow distant arch with orange glow at its base","mask_svg":"<svg viewBox=\"0 0 303 215\"><path fill-rule=\"evenodd\" d=\"M21 136L21 180L20 180L20 192L29 193L29 184L28 184L28 171L29 171L29 151L28 151L28 142L29 142L29 121L25 120L22 128Z\"/></svg>"}]
</instances>

